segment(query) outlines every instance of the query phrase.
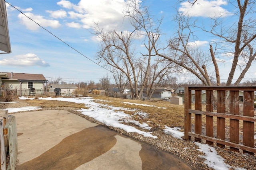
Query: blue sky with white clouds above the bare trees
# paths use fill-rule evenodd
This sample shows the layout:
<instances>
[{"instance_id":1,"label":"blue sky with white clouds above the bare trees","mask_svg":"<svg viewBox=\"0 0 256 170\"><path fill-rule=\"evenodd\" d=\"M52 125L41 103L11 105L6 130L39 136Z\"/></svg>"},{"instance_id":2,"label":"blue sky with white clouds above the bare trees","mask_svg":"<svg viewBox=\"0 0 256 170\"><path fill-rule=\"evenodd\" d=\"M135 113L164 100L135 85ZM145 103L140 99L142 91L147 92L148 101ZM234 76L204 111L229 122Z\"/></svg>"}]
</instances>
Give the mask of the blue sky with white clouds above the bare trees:
<instances>
[{"instance_id":1,"label":"blue sky with white clouds above the bare trees","mask_svg":"<svg viewBox=\"0 0 256 170\"><path fill-rule=\"evenodd\" d=\"M96 61L99 40L94 36L94 23L104 30L128 30L123 20L125 0L6 0L12 53L0 54L0 72L43 74L47 80L62 78L68 83L98 82L111 73ZM191 7L186 0L145 0L154 19L164 17L162 42L174 33L176 10L188 12L206 21L216 11L230 20L232 5L226 0L198 0ZM14 7L12 7L14 6ZM30 20L30 19L32 20ZM36 23L34 22L36 21ZM205 22L207 25L207 22ZM198 34L199 41L191 42L209 49L212 37ZM164 41L163 41L164 40ZM138 45L138 50L141 44ZM228 78L232 61L220 64L221 81ZM254 63L255 64L255 63ZM240 72L236 72L235 78ZM256 69L248 71L245 79L255 78ZM186 77L183 77L184 79ZM181 79L183 79L181 77ZM114 80L113 80L114 83Z\"/></svg>"}]
</instances>

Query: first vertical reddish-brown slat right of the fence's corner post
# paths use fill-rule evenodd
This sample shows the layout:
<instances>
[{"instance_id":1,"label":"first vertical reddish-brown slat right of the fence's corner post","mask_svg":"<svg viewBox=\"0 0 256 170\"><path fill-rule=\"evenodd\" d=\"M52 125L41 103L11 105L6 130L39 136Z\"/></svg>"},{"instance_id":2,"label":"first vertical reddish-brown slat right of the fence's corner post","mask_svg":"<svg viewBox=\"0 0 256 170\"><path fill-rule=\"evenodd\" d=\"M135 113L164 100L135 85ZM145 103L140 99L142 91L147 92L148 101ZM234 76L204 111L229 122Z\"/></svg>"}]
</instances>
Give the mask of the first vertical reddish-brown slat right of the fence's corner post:
<instances>
[{"instance_id":1,"label":"first vertical reddish-brown slat right of the fence's corner post","mask_svg":"<svg viewBox=\"0 0 256 170\"><path fill-rule=\"evenodd\" d=\"M202 110L202 91L195 90L195 109ZM195 133L202 134L202 115L195 114ZM195 138L195 141L201 141L201 139Z\"/></svg>"}]
</instances>

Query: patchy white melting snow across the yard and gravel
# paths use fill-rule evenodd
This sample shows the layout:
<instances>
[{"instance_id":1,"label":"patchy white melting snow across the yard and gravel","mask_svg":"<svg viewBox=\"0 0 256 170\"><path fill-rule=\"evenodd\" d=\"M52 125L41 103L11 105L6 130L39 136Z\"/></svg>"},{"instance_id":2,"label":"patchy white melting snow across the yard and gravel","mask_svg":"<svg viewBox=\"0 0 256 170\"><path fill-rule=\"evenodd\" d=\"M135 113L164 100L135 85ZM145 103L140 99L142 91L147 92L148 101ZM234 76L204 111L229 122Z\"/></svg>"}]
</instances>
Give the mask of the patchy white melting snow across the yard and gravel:
<instances>
[{"instance_id":1,"label":"patchy white melting snow across the yard and gravel","mask_svg":"<svg viewBox=\"0 0 256 170\"><path fill-rule=\"evenodd\" d=\"M59 100L59 101L67 101L67 102L74 102L79 104L84 104L88 109L80 109L82 114L87 115L89 117L94 118L95 120L104 123L107 126L110 127L117 127L120 129L123 129L124 131L128 133L138 133L141 135L144 135L145 137L152 137L154 139L157 138L157 136L152 135L151 132L144 132L139 129L136 129L135 127L124 125L125 123L133 123L134 125L138 127L142 127L143 129L150 129L151 127L148 126L146 122L139 123L138 121L135 121L131 115L128 115L124 113L125 111L135 111L134 114L140 114L144 117L148 117L148 113L141 112L137 109L127 109L124 107L113 107L107 104L99 104L94 101L95 99L90 97L84 97L84 98L27 98L27 97L20 97L21 100ZM132 104L125 102L125 104ZM144 105L148 107L156 107L154 105ZM9 108L8 113L15 113L18 111L29 111L29 110L36 110L40 109L40 107L21 107L21 108ZM178 127L168 127L165 125L165 129L163 130L166 135L172 135L175 138L178 138L180 140L183 140L182 137L184 136L184 132L180 131L181 129ZM254 136L254 139L256 139L256 136ZM198 145L200 151L204 152L205 155L201 155L203 158L205 158L204 163L207 164L209 167L214 168L214 170L230 170L230 169L236 169L236 170L242 170L242 168L236 168L231 167L230 165L226 164L224 162L224 159L218 155L214 147L211 147L206 144L195 142L196 145ZM186 150L187 148L184 148ZM215 162L215 163L214 163Z\"/></svg>"}]
</instances>

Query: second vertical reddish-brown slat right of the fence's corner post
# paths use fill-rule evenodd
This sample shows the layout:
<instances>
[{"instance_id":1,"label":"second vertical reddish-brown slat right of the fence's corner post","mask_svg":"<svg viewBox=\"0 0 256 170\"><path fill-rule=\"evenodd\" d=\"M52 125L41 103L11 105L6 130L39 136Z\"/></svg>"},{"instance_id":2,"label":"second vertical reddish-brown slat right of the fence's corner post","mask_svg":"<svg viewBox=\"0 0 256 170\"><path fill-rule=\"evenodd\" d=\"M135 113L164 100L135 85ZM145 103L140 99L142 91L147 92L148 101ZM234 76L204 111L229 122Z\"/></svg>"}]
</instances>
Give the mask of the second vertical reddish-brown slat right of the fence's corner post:
<instances>
[{"instance_id":1,"label":"second vertical reddish-brown slat right of the fence's corner post","mask_svg":"<svg viewBox=\"0 0 256 170\"><path fill-rule=\"evenodd\" d=\"M206 111L213 111L212 90L206 90ZM206 115L206 136L213 137L213 116ZM213 142L206 141L207 144L213 145Z\"/></svg>"}]
</instances>

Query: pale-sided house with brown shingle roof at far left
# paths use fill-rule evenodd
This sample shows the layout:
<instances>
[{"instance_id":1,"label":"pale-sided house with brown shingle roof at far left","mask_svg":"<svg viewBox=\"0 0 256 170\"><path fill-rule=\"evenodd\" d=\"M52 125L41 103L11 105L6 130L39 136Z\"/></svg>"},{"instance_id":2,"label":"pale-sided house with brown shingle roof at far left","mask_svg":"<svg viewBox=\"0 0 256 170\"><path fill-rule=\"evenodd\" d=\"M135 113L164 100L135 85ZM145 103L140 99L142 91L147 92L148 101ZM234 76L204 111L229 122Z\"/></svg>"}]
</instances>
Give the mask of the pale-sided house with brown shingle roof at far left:
<instances>
[{"instance_id":1,"label":"pale-sided house with brown shingle roof at far left","mask_svg":"<svg viewBox=\"0 0 256 170\"><path fill-rule=\"evenodd\" d=\"M27 95L30 89L35 89L35 94L44 94L48 80L43 74L27 74L14 72L1 72L0 84L3 90L17 90L17 95ZM1 93L2 94L2 93Z\"/></svg>"}]
</instances>

